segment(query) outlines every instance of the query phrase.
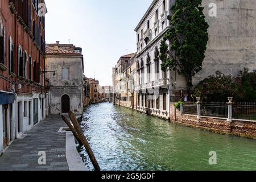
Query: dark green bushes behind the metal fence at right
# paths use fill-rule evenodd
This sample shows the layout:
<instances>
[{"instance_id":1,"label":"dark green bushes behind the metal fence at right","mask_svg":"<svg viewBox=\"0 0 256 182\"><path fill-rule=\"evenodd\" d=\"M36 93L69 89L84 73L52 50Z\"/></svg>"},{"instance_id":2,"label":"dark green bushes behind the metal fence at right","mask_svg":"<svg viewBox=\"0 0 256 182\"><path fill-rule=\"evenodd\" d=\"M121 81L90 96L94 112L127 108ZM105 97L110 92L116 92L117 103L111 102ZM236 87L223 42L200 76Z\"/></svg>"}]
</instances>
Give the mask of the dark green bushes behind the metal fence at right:
<instances>
[{"instance_id":1,"label":"dark green bushes behind the metal fence at right","mask_svg":"<svg viewBox=\"0 0 256 182\"><path fill-rule=\"evenodd\" d=\"M226 76L221 72L209 76L193 89L194 97L201 97L202 101L227 101L234 97L234 101L256 101L256 71L249 73L248 69L240 71L237 77Z\"/></svg>"}]
</instances>

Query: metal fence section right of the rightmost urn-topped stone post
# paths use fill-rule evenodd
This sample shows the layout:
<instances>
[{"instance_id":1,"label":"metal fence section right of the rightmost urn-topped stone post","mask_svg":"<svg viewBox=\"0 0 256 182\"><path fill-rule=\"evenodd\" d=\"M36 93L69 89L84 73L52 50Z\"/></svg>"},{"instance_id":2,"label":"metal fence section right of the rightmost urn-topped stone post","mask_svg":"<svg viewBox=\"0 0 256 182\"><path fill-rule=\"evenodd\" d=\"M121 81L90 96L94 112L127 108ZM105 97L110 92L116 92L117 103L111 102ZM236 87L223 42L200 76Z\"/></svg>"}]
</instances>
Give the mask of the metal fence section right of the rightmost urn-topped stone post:
<instances>
[{"instance_id":1,"label":"metal fence section right of the rightmost urn-topped stone post","mask_svg":"<svg viewBox=\"0 0 256 182\"><path fill-rule=\"evenodd\" d=\"M232 119L256 121L256 102L238 102L233 104Z\"/></svg>"}]
</instances>

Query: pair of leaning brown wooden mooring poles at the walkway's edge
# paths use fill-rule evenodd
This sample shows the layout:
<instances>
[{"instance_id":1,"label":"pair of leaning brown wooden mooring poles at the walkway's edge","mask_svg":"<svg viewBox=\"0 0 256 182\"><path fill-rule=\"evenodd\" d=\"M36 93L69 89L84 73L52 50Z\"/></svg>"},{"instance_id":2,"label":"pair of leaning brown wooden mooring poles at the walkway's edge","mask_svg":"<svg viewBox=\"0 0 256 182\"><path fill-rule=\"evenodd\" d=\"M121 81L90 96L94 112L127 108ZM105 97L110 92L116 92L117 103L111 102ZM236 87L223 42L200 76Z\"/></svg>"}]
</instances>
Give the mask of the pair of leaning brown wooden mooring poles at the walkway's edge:
<instances>
[{"instance_id":1,"label":"pair of leaning brown wooden mooring poles at the walkway's edge","mask_svg":"<svg viewBox=\"0 0 256 182\"><path fill-rule=\"evenodd\" d=\"M90 158L90 161L93 164L93 167L96 171L101 171L100 166L98 165L98 162L93 154L92 148L90 148L89 142L87 141L87 139L85 138L84 135L84 131L82 131L81 126L79 125L79 122L77 121L75 115L72 113L72 111L69 111L69 118L71 119L71 122L73 123L73 126L71 125L70 122L67 123L67 118L65 118L64 116L62 117L63 120L65 121L65 123L67 123L68 127L71 129L71 131L73 132L73 134L75 135L75 137L78 139L78 141L80 141L84 147L85 150ZM79 142L79 143L80 143Z\"/></svg>"}]
</instances>

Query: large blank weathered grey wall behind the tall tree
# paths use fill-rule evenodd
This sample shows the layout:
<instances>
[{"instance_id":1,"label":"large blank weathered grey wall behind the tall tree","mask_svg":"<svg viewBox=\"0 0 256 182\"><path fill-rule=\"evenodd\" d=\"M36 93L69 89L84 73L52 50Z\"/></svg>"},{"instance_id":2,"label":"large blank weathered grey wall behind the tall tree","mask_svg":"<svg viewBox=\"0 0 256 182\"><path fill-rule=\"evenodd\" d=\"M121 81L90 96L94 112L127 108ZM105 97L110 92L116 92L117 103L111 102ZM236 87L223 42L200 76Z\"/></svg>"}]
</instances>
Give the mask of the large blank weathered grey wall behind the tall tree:
<instances>
[{"instance_id":1,"label":"large blank weathered grey wall behind the tall tree","mask_svg":"<svg viewBox=\"0 0 256 182\"><path fill-rule=\"evenodd\" d=\"M216 3L217 16L209 16L209 3ZM256 69L255 61L255 0L204 0L204 14L209 23L209 42L203 71L197 83L216 71L237 75L244 67Z\"/></svg>"}]
</instances>

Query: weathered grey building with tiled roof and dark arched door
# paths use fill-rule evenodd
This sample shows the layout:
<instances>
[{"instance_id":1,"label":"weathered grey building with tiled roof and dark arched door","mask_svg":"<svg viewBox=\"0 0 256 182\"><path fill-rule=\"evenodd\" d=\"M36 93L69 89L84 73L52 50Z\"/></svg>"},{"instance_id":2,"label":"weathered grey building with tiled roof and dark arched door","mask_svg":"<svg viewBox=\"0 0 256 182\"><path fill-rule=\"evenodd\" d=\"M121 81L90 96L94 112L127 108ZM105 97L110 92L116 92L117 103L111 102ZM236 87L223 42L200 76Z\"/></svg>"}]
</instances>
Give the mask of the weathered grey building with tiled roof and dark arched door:
<instances>
[{"instance_id":1,"label":"weathered grey building with tiled roof and dark arched door","mask_svg":"<svg viewBox=\"0 0 256 182\"><path fill-rule=\"evenodd\" d=\"M49 79L50 113L65 114L69 110L80 115L84 97L84 58L82 49L72 44L47 44L46 68ZM54 72L53 76L51 72Z\"/></svg>"}]
</instances>

